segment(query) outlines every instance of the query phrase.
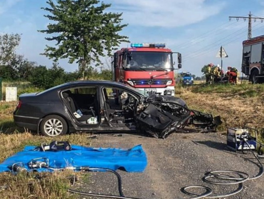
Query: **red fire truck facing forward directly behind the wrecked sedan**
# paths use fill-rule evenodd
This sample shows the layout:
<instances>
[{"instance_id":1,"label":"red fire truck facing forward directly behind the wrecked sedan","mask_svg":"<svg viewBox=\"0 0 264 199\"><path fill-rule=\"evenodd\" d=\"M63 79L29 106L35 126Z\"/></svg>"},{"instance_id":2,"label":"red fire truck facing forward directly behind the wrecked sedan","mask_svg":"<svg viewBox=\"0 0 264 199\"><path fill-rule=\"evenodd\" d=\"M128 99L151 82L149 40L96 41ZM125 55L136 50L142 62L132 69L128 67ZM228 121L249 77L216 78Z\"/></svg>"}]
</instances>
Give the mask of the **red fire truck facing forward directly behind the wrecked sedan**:
<instances>
[{"instance_id":1,"label":"red fire truck facing forward directly behind the wrecked sedan","mask_svg":"<svg viewBox=\"0 0 264 199\"><path fill-rule=\"evenodd\" d=\"M165 48L165 44L134 43L114 53L113 81L160 95L175 94L173 53L177 53L178 68L181 54Z\"/></svg>"}]
</instances>

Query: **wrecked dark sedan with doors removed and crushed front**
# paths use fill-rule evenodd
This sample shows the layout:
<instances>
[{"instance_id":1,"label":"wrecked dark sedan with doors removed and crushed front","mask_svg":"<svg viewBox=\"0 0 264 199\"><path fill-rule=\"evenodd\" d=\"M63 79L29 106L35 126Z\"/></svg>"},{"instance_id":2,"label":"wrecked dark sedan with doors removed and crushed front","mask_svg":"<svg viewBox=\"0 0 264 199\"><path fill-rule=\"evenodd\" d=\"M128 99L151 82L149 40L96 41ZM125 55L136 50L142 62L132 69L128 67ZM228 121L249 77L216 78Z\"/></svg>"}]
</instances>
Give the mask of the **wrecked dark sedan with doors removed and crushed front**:
<instances>
[{"instance_id":1,"label":"wrecked dark sedan with doors removed and crushed front","mask_svg":"<svg viewBox=\"0 0 264 199\"><path fill-rule=\"evenodd\" d=\"M17 126L58 136L71 132L139 132L166 138L186 125L216 131L220 117L189 110L176 97L144 93L111 81L69 82L19 96Z\"/></svg>"}]
</instances>

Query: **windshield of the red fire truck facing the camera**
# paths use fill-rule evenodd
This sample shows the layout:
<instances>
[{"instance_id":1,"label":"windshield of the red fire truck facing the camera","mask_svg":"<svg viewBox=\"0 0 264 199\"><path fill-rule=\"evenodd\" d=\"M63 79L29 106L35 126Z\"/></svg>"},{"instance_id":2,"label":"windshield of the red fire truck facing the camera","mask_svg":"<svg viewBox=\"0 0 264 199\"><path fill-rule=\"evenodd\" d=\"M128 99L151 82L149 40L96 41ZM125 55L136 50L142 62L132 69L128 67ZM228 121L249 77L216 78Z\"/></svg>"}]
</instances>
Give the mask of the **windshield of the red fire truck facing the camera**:
<instances>
[{"instance_id":1,"label":"windshield of the red fire truck facing the camera","mask_svg":"<svg viewBox=\"0 0 264 199\"><path fill-rule=\"evenodd\" d=\"M172 54L169 52L131 52L128 55L127 68L172 69Z\"/></svg>"}]
</instances>

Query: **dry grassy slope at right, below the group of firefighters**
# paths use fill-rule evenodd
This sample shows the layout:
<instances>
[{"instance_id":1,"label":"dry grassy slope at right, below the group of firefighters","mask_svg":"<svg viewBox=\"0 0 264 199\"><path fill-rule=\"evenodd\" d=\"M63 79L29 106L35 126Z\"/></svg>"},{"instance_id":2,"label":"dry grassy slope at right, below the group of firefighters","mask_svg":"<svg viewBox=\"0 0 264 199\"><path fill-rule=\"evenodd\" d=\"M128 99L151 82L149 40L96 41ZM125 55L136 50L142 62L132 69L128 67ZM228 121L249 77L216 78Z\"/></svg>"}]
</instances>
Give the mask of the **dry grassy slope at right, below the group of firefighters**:
<instances>
[{"instance_id":1,"label":"dry grassy slope at right, below the group of firefighters","mask_svg":"<svg viewBox=\"0 0 264 199\"><path fill-rule=\"evenodd\" d=\"M186 101L189 108L209 112L214 116L220 115L223 124L218 129L225 133L227 127L264 128L264 92L259 90L258 94L253 96L242 94L263 88L264 85L197 85L179 88L176 93ZM259 138L264 141L263 134L260 134Z\"/></svg>"}]
</instances>

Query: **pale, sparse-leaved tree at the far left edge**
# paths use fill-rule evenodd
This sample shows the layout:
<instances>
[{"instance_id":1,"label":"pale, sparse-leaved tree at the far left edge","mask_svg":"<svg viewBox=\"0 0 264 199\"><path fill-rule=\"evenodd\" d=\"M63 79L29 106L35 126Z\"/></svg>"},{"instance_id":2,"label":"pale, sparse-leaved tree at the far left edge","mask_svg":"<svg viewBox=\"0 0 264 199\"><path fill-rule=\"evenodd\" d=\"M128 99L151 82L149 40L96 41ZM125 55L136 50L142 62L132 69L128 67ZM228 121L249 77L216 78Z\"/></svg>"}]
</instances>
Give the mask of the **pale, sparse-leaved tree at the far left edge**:
<instances>
[{"instance_id":1,"label":"pale, sparse-leaved tree at the far left edge","mask_svg":"<svg viewBox=\"0 0 264 199\"><path fill-rule=\"evenodd\" d=\"M19 34L0 35L0 65L8 65L16 56L15 49L20 40Z\"/></svg>"}]
</instances>

